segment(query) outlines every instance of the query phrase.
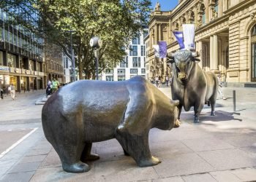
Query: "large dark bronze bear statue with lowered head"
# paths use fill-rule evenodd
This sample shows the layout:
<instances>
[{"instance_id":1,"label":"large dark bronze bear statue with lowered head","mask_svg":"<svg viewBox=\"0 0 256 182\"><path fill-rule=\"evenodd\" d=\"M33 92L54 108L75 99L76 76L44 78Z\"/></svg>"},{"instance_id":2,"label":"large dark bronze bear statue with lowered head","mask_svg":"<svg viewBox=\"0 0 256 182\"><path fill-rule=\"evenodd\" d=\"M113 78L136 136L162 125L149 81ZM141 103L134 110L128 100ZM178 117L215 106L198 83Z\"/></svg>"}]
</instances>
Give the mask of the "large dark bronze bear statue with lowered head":
<instances>
[{"instance_id":1,"label":"large dark bronze bear statue with lowered head","mask_svg":"<svg viewBox=\"0 0 256 182\"><path fill-rule=\"evenodd\" d=\"M167 98L141 76L124 82L81 80L54 93L42 108L45 137L70 173L90 170L94 142L116 138L140 167L157 165L148 132L178 127L178 100Z\"/></svg>"}]
</instances>

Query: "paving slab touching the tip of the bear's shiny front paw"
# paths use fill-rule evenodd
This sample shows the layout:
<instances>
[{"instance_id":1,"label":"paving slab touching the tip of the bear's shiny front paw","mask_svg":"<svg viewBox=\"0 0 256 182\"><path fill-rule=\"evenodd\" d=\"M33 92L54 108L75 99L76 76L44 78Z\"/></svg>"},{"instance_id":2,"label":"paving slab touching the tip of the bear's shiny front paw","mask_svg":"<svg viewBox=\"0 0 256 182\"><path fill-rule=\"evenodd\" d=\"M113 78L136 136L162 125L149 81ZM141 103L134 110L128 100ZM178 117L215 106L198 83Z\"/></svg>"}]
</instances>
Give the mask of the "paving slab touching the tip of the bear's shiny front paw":
<instances>
[{"instance_id":1,"label":"paving slab touching the tip of the bear's shiny front paw","mask_svg":"<svg viewBox=\"0 0 256 182\"><path fill-rule=\"evenodd\" d=\"M170 156L168 159L163 158L161 160L161 164L154 166L160 178L206 173L214 170L214 167L194 153L177 154Z\"/></svg>"}]
</instances>

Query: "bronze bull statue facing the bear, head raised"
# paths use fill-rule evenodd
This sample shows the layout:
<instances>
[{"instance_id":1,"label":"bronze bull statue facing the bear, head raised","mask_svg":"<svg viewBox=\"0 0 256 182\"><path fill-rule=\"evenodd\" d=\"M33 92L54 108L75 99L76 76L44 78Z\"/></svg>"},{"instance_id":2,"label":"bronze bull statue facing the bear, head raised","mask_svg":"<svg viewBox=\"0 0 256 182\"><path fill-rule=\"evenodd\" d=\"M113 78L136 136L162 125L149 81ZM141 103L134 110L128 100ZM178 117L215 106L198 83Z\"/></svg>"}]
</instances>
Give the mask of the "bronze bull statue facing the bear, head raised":
<instances>
[{"instance_id":1,"label":"bronze bull statue facing the bear, head raised","mask_svg":"<svg viewBox=\"0 0 256 182\"><path fill-rule=\"evenodd\" d=\"M205 103L211 105L211 116L214 116L215 103L217 99L218 79L211 72L203 71L197 62L197 52L189 50L178 50L168 53L170 63L173 63L173 78L171 92L173 100L179 100L178 119L180 119L181 108L185 111L193 106L195 111L194 122L199 122L200 113Z\"/></svg>"}]
</instances>

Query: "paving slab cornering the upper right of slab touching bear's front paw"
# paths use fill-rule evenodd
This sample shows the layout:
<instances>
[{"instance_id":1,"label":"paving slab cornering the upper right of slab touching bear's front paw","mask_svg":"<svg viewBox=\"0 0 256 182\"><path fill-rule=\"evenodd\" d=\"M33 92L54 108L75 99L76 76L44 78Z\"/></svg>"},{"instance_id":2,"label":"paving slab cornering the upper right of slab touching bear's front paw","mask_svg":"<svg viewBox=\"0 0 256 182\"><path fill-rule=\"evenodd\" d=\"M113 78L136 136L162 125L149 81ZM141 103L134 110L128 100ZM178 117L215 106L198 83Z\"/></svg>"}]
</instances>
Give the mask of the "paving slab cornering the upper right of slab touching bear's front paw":
<instances>
[{"instance_id":1,"label":"paving slab cornering the upper right of slab touching bear's front paw","mask_svg":"<svg viewBox=\"0 0 256 182\"><path fill-rule=\"evenodd\" d=\"M193 151L212 151L219 149L233 149L229 143L225 143L217 138L200 138L199 140L190 139L182 141Z\"/></svg>"}]
</instances>

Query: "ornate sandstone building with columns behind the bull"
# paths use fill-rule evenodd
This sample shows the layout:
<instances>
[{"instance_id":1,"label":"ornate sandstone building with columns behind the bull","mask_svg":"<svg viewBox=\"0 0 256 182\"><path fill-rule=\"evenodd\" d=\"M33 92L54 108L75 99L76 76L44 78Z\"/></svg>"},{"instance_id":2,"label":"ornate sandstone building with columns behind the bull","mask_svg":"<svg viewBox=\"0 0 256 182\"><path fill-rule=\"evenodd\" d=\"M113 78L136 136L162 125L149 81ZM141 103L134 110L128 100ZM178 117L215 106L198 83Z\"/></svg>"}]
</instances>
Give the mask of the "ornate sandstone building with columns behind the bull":
<instances>
[{"instance_id":1,"label":"ornate sandstone building with columns behind the bull","mask_svg":"<svg viewBox=\"0 0 256 182\"><path fill-rule=\"evenodd\" d=\"M148 79L168 74L167 66L162 66L164 71L155 66L152 45L163 40L167 41L167 52L178 50L172 31L182 31L184 23L195 24L196 49L204 70L222 74L222 81L230 85L256 82L255 0L182 0L170 12L162 12L157 4L147 38ZM165 60L160 62L166 65Z\"/></svg>"}]
</instances>

